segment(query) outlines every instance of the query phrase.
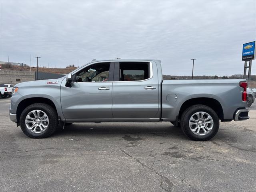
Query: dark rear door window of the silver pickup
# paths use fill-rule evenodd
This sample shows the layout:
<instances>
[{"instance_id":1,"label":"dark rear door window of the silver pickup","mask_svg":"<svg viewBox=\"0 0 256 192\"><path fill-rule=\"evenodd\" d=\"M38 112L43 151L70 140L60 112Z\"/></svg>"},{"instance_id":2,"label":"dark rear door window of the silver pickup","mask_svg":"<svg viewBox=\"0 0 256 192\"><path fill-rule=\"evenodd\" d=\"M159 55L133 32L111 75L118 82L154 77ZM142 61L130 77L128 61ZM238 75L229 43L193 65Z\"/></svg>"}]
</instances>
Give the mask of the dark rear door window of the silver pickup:
<instances>
[{"instance_id":1,"label":"dark rear door window of the silver pickup","mask_svg":"<svg viewBox=\"0 0 256 192\"><path fill-rule=\"evenodd\" d=\"M149 78L147 62L120 62L119 81L141 81Z\"/></svg>"}]
</instances>

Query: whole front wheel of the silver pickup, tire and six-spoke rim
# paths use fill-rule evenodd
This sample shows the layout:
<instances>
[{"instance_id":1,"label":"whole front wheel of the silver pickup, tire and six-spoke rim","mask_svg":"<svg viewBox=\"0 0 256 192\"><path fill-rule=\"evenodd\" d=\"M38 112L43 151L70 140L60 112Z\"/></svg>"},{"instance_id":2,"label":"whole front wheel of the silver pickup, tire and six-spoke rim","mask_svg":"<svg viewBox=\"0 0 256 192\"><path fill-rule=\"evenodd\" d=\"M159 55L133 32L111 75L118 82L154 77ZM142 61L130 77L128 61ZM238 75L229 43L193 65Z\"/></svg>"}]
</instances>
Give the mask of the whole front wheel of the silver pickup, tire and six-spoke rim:
<instances>
[{"instance_id":1,"label":"whole front wheel of the silver pickup, tire and six-spoke rim","mask_svg":"<svg viewBox=\"0 0 256 192\"><path fill-rule=\"evenodd\" d=\"M49 137L58 127L57 112L48 104L32 104L20 115L20 127L30 138Z\"/></svg>"}]
</instances>

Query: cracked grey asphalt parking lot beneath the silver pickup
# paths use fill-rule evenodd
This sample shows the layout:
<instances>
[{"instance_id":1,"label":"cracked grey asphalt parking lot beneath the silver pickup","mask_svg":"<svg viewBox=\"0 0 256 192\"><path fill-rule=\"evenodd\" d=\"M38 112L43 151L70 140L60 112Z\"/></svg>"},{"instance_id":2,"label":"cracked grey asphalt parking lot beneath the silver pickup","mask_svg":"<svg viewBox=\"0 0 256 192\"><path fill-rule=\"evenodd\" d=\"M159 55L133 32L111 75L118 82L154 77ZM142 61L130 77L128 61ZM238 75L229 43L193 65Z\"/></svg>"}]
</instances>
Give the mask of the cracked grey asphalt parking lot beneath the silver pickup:
<instances>
[{"instance_id":1,"label":"cracked grey asphalt parking lot beneath the silver pickup","mask_svg":"<svg viewBox=\"0 0 256 192\"><path fill-rule=\"evenodd\" d=\"M76 123L31 139L0 99L1 192L256 191L256 103L210 141L163 123Z\"/></svg>"}]
</instances>

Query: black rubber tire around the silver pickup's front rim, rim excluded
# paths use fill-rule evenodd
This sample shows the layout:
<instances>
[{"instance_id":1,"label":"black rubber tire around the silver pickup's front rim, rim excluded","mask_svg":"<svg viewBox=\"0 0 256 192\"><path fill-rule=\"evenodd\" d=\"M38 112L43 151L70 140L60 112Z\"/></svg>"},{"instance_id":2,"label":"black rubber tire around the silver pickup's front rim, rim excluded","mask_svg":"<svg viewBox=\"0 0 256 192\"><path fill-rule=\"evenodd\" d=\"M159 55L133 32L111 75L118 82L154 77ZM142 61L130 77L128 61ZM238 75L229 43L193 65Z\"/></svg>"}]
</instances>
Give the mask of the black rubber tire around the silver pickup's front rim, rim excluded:
<instances>
[{"instance_id":1,"label":"black rubber tire around the silver pickup's front rim, rim excluded","mask_svg":"<svg viewBox=\"0 0 256 192\"><path fill-rule=\"evenodd\" d=\"M25 119L32 110L42 110L49 118L48 128L42 133L32 133L25 125ZM58 127L58 114L52 106L45 103L35 103L26 107L20 115L20 128L24 134L30 138L46 138L51 136Z\"/></svg>"}]
</instances>

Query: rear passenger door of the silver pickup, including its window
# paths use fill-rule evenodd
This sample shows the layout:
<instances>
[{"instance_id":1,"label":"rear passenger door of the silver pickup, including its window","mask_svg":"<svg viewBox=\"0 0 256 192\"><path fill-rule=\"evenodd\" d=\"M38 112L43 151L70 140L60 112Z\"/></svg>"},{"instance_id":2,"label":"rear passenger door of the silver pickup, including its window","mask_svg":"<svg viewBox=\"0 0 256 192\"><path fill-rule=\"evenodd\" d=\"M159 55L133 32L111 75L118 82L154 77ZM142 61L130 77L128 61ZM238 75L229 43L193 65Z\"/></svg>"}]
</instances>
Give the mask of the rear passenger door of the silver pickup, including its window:
<instances>
[{"instance_id":1,"label":"rear passenger door of the silver pickup, including its window","mask_svg":"<svg viewBox=\"0 0 256 192\"><path fill-rule=\"evenodd\" d=\"M115 62L112 91L114 118L128 121L159 120L159 94L155 63Z\"/></svg>"}]
</instances>

